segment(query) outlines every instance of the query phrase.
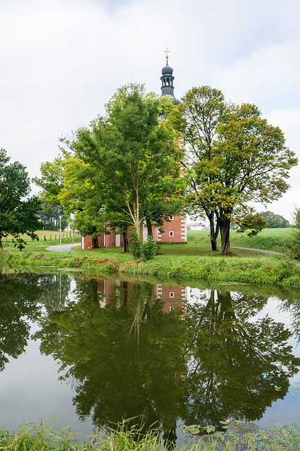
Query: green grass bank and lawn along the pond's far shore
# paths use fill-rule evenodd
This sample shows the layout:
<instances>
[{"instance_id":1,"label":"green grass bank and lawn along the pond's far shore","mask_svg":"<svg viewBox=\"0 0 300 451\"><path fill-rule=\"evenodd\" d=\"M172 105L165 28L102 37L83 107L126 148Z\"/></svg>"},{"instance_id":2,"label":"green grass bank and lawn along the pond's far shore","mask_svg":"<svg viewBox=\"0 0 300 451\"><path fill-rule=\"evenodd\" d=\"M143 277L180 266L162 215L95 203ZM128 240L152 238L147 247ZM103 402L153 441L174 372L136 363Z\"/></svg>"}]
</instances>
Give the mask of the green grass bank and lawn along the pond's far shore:
<instances>
[{"instance_id":1,"label":"green grass bank and lawn along the pond's far shore","mask_svg":"<svg viewBox=\"0 0 300 451\"><path fill-rule=\"evenodd\" d=\"M274 230L265 229L261 237L253 238L254 245L261 240L262 249L282 250L288 230L277 229L274 235ZM237 237L235 245L241 245L240 235L235 230L232 230L232 236ZM0 264L15 268L76 268L104 275L147 276L178 283L207 280L300 288L300 264L285 254L265 254L232 247L232 254L225 257L221 252L211 251L207 230L189 231L188 240L186 245L159 245L158 255L149 261L135 261L132 254L124 253L121 247L81 251L75 245L77 252L60 254L47 252L46 246L28 246L23 252L4 246Z\"/></svg>"}]
</instances>

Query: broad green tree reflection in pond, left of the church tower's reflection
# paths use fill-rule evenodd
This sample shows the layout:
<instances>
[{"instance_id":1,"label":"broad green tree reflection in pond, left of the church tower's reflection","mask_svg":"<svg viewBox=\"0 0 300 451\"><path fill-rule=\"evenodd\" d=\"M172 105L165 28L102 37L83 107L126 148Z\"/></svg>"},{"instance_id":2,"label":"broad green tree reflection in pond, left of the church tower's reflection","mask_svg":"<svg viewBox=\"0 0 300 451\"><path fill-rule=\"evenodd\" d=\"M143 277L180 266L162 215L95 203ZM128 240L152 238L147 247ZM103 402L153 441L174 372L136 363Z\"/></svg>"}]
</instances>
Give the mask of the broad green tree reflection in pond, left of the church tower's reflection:
<instances>
[{"instance_id":1,"label":"broad green tree reflection in pond, left of the church tower's reflection","mask_svg":"<svg viewBox=\"0 0 300 451\"><path fill-rule=\"evenodd\" d=\"M146 410L146 424L158 421L169 431L182 413L185 390L180 313L163 313L161 301L151 300L152 284L127 288L124 307L109 299L101 309L95 281L78 280L77 302L49 312L36 336L42 352L66 370L62 378L73 382L81 419L93 411L94 424L108 424Z\"/></svg>"}]
</instances>

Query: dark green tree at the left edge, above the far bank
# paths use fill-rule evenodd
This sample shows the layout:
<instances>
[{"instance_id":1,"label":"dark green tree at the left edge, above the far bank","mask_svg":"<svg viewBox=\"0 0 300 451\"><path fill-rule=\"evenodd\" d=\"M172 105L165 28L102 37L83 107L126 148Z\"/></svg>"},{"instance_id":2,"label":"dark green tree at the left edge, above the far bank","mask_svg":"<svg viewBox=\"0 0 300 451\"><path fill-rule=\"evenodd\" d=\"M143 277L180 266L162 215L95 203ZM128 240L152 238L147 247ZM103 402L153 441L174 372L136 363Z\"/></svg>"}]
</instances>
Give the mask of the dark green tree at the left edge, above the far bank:
<instances>
[{"instance_id":1,"label":"dark green tree at the left edge, above the far bank","mask_svg":"<svg viewBox=\"0 0 300 451\"><path fill-rule=\"evenodd\" d=\"M28 198L30 179L25 166L10 158L4 149L0 150L0 248L1 240L7 235L13 236L13 242L20 250L25 240L20 235L28 235L38 240L35 230L39 228L37 197Z\"/></svg>"}]
</instances>

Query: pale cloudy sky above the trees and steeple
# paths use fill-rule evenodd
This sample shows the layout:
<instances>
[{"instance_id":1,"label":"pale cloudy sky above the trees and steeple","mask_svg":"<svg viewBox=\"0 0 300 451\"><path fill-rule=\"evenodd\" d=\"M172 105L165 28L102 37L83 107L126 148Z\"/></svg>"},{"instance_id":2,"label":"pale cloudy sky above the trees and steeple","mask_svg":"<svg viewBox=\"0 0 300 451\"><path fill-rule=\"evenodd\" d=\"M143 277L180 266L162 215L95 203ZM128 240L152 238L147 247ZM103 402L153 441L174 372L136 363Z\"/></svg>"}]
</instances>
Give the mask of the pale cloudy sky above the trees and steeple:
<instances>
[{"instance_id":1,"label":"pale cloudy sky above the trees and steeple","mask_svg":"<svg viewBox=\"0 0 300 451\"><path fill-rule=\"evenodd\" d=\"M300 160L299 17L299 0L0 0L0 147L39 176L120 86L160 94L168 48L175 97L210 85L256 104ZM299 166L289 184L268 210L290 220Z\"/></svg>"}]
</instances>

